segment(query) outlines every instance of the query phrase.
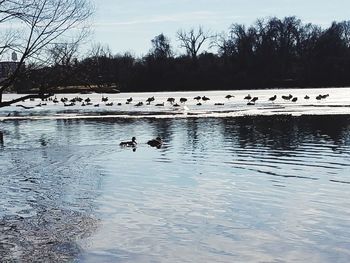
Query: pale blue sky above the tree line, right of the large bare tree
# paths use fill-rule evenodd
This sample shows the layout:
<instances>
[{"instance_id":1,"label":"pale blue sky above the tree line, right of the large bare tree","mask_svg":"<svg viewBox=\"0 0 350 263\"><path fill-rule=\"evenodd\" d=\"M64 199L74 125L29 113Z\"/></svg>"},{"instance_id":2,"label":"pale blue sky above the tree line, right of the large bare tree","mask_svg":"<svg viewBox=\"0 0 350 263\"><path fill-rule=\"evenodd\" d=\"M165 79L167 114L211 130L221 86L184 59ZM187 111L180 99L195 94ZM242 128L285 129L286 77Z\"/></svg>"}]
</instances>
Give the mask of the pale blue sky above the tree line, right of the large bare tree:
<instances>
[{"instance_id":1,"label":"pale blue sky above the tree line, right of the large bare tree","mask_svg":"<svg viewBox=\"0 0 350 263\"><path fill-rule=\"evenodd\" d=\"M202 25L212 32L227 32L232 23L251 25L257 18L296 15L303 22L329 26L350 20L350 0L92 0L95 42L113 53L140 56L151 39L164 33L178 49L179 29Z\"/></svg>"}]
</instances>

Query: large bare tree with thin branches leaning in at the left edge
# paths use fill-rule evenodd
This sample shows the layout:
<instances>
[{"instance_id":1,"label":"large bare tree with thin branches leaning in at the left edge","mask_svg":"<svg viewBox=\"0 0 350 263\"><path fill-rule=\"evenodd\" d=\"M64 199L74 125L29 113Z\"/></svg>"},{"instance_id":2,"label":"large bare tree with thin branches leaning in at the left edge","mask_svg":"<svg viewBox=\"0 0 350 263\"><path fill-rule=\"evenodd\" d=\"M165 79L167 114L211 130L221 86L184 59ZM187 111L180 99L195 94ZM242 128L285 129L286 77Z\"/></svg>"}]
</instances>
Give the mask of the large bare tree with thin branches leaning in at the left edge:
<instances>
[{"instance_id":1,"label":"large bare tree with thin branches leaning in at the left edge","mask_svg":"<svg viewBox=\"0 0 350 263\"><path fill-rule=\"evenodd\" d=\"M0 23L18 24L7 42L0 40L3 53L16 51L19 60L16 69L0 82L0 107L17 102L2 101L2 93L18 78L27 59L40 59L45 48L58 39L70 37L73 29L83 26L92 14L89 0L1 0ZM0 49L1 50L1 49ZM42 59L42 58L41 58ZM50 94L31 95L42 98Z\"/></svg>"}]
</instances>

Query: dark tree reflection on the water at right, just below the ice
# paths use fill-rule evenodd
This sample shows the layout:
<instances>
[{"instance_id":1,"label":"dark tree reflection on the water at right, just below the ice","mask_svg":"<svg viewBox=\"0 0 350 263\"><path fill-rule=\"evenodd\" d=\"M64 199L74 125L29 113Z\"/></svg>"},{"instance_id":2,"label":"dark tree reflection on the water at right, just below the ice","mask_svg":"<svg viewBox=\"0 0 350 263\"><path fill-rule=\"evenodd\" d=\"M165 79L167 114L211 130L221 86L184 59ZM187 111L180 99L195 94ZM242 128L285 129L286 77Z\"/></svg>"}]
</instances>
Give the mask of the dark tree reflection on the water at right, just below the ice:
<instances>
[{"instance_id":1,"label":"dark tree reflection on the water at right, just below the ice","mask_svg":"<svg viewBox=\"0 0 350 263\"><path fill-rule=\"evenodd\" d=\"M225 137L236 137L240 147L283 150L283 155L310 141L348 145L349 122L344 116L280 116L227 118L221 124Z\"/></svg>"}]
</instances>

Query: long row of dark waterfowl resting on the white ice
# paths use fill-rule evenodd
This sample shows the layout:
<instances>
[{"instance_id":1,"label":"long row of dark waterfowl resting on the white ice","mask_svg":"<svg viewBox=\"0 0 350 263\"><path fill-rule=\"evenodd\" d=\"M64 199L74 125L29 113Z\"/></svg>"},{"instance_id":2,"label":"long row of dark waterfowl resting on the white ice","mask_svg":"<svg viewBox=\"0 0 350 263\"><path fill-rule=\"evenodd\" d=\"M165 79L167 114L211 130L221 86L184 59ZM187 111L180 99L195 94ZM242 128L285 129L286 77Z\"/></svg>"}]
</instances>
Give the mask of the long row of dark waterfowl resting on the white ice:
<instances>
[{"instance_id":1,"label":"long row of dark waterfowl resting on the white ice","mask_svg":"<svg viewBox=\"0 0 350 263\"><path fill-rule=\"evenodd\" d=\"M235 96L234 95L226 95L225 98L227 100L230 100L231 98L234 98ZM324 100L326 99L327 97L329 97L329 94L319 94L315 97L315 99L317 101L321 101L321 100ZM291 101L291 102L297 102L298 101L298 97L295 97L291 94L289 95L282 95L281 98L283 99L283 101L285 102L288 102L288 101ZM304 97L304 100L310 100L310 96L308 95L305 95ZM31 99L31 100L34 100L34 99ZM196 100L197 103L196 105L197 106L201 106L202 103L205 103L207 101L210 100L210 98L206 97L206 96L196 96L193 98L193 100ZM244 100L247 102L247 105L255 105L256 102L259 100L259 97L253 97L251 96L250 94L248 94L247 96L244 97ZM277 100L277 95L274 95L272 97L270 97L268 99L269 102L275 102ZM91 102L91 99L88 97L86 99L83 99L79 96L76 96L72 99L68 99L66 97L63 97L61 98L60 100L57 99L57 97L55 96L54 98L50 97L48 99L45 99L43 100L44 102L41 102L39 104L37 104L36 106L37 107L41 107L41 106L46 106L47 103L45 103L45 101L52 101L54 104L58 104L58 103L63 103L63 105L65 107L70 107L70 106L75 106L77 103L81 103L80 106L94 106L94 107L100 107L100 103L95 103L93 104ZM125 104L132 104L134 101L134 99L132 97L126 99L125 101ZM140 106L143 106L143 105L151 105L152 102L155 101L155 98L154 96L152 97L149 97L146 99L145 102L143 101L138 101L137 103L134 104L135 107L140 107ZM181 97L178 101L176 101L175 98L173 97L169 97L166 99L166 102L169 103L169 105L173 106L173 107L180 107L181 104L185 104L186 102L188 101L187 98L185 97ZM108 97L104 97L102 96L101 98L101 103L104 103L105 106L113 106L114 103L112 101L109 101ZM102 104L103 105L103 104ZM118 102L116 104L117 106L122 106L123 103L122 102ZM224 103L215 103L214 104L215 106L222 106L224 105ZM17 105L17 106L21 106L21 107L24 107L24 108L30 108L30 107L25 107L23 105ZM156 107L164 107L165 106L165 102L161 102L161 103L155 103L154 106Z\"/></svg>"}]
</instances>

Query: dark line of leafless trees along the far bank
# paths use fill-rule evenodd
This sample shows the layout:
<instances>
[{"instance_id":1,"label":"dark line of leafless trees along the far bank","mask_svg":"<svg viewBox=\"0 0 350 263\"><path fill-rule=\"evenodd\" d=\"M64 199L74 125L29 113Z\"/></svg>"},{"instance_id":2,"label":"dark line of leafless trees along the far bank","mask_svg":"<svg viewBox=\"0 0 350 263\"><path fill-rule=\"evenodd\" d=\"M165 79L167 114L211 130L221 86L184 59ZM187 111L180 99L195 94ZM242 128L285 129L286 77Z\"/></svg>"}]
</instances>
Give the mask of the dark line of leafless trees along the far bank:
<instances>
[{"instance_id":1,"label":"dark line of leafless trees along the far bank","mask_svg":"<svg viewBox=\"0 0 350 263\"><path fill-rule=\"evenodd\" d=\"M150 41L150 51L141 58L114 55L98 45L77 59L77 44L54 45L52 64L28 67L15 88L116 85L122 92L135 92L350 85L350 21L322 28L294 16L271 17L249 27L232 24L222 34L202 27L179 30L180 55L164 34Z\"/></svg>"}]
</instances>

